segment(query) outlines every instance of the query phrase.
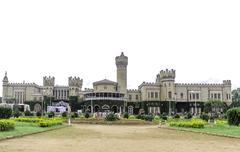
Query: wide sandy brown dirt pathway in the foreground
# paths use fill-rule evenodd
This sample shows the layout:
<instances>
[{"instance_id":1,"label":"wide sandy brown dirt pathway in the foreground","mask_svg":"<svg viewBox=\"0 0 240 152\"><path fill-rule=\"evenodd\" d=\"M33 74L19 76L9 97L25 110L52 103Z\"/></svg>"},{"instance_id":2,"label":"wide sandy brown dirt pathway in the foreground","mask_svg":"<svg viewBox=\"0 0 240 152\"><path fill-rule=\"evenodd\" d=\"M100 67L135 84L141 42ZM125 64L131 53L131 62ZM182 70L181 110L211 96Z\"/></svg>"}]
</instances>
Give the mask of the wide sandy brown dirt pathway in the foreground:
<instances>
[{"instance_id":1,"label":"wide sandy brown dirt pathway in the foreground","mask_svg":"<svg viewBox=\"0 0 240 152\"><path fill-rule=\"evenodd\" d=\"M237 152L240 140L156 126L73 125L0 142L0 152Z\"/></svg>"}]
</instances>

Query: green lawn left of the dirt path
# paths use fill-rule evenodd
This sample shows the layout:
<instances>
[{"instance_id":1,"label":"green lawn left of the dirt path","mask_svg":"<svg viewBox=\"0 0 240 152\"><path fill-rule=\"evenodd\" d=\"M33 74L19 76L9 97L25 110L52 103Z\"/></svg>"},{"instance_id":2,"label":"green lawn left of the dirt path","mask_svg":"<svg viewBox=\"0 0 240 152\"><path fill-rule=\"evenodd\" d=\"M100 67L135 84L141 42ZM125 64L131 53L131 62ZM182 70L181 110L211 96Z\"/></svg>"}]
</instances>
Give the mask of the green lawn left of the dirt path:
<instances>
[{"instance_id":1,"label":"green lawn left of the dirt path","mask_svg":"<svg viewBox=\"0 0 240 152\"><path fill-rule=\"evenodd\" d=\"M52 127L39 127L36 123L27 123L27 122L16 122L14 130L0 132L0 139L7 137L18 137L23 135L28 135L32 133L52 130L63 127L62 125L52 126Z\"/></svg>"}]
</instances>

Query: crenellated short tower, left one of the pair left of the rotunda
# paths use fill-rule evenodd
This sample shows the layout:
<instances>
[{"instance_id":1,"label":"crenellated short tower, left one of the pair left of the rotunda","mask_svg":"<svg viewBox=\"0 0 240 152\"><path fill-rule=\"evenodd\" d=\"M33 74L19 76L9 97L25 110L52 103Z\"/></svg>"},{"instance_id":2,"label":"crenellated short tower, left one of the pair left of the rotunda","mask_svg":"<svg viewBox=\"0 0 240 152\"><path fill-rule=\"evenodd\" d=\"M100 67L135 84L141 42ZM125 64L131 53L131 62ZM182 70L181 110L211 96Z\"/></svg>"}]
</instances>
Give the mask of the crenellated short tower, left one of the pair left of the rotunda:
<instances>
[{"instance_id":1,"label":"crenellated short tower, left one of the pair left of the rotunda","mask_svg":"<svg viewBox=\"0 0 240 152\"><path fill-rule=\"evenodd\" d=\"M55 85L54 77L43 77L43 95L53 97L53 89Z\"/></svg>"}]
</instances>

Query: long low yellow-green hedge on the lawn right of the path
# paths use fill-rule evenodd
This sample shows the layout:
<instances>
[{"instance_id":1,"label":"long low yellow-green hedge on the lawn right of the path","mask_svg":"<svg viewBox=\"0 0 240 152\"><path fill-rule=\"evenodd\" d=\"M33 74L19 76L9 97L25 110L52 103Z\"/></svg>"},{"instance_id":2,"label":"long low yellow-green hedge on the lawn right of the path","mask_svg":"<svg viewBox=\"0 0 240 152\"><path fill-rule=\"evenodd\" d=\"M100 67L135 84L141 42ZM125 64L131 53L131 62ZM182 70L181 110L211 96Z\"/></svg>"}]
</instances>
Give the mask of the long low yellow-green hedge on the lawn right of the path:
<instances>
[{"instance_id":1,"label":"long low yellow-green hedge on the lawn right of the path","mask_svg":"<svg viewBox=\"0 0 240 152\"><path fill-rule=\"evenodd\" d=\"M204 122L202 120L191 121L173 121L169 125L173 127L185 127L185 128L204 128Z\"/></svg>"}]
</instances>

